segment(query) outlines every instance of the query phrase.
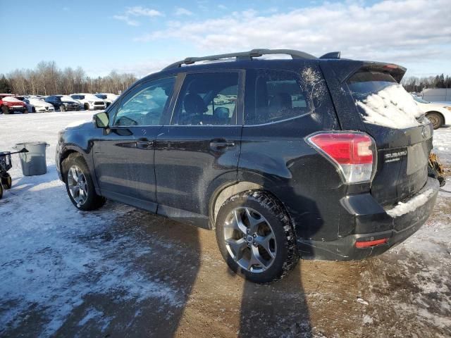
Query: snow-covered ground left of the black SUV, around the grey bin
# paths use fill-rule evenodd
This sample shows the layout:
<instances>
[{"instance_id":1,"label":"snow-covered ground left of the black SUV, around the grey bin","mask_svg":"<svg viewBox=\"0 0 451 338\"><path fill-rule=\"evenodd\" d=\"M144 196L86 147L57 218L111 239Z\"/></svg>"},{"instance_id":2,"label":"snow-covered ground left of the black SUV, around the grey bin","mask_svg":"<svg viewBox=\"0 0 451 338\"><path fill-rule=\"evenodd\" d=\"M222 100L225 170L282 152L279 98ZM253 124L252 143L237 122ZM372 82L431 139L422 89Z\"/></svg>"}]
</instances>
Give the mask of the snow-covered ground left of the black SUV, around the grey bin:
<instances>
[{"instance_id":1,"label":"snow-covered ground left of the black SUV, around the grey bin","mask_svg":"<svg viewBox=\"0 0 451 338\"><path fill-rule=\"evenodd\" d=\"M0 135L4 136L0 149L12 149L18 142L50 144L45 175L24 177L14 156L9 171L13 187L0 200L2 337L3 330L20 325L30 309L39 312L42 322L42 331L35 336L52 336L91 294L117 294L118 303L159 299L159 307L183 304L178 287L154 277L152 271L136 268L142 261L152 261L159 246L171 247L170 242L124 232L118 218L134 211L132 207L110 202L92 213L78 211L58 180L58 130L70 121L90 119L92 113L0 115ZM100 316L88 311L79 324L98 322ZM108 318L101 318L109 325Z\"/></svg>"}]
</instances>

